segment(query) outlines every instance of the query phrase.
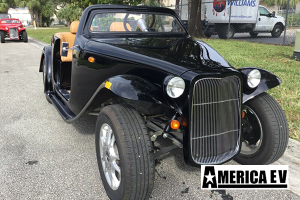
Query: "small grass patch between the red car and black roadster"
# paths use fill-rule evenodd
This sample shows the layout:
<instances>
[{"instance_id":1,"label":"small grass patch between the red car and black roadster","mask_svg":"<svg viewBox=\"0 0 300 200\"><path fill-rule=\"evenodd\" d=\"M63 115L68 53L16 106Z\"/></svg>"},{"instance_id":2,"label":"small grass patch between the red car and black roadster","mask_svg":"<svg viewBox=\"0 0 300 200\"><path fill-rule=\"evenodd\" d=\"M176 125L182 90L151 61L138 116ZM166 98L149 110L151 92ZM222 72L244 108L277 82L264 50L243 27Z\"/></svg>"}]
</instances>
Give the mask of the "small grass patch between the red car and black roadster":
<instances>
[{"instance_id":1,"label":"small grass patch between the red car and black roadster","mask_svg":"<svg viewBox=\"0 0 300 200\"><path fill-rule=\"evenodd\" d=\"M36 30L34 28L27 28L26 31L28 36L50 44L51 37L54 35L54 33L70 32L70 28L37 28Z\"/></svg>"}]
</instances>

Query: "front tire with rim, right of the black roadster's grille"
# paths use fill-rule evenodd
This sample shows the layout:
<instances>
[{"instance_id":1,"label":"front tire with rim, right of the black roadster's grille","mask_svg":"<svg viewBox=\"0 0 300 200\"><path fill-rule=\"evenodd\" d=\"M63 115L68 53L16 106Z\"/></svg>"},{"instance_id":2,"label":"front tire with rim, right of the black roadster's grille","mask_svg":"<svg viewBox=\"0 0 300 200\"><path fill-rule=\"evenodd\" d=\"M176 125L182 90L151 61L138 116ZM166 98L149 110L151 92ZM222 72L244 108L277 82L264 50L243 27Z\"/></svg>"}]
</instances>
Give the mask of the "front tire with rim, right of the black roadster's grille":
<instances>
[{"instance_id":1,"label":"front tire with rim, right of the black roadster's grille","mask_svg":"<svg viewBox=\"0 0 300 200\"><path fill-rule=\"evenodd\" d=\"M265 165L278 160L289 139L283 110L269 94L262 93L245 104L242 120L243 142L234 159L244 165Z\"/></svg>"}]
</instances>

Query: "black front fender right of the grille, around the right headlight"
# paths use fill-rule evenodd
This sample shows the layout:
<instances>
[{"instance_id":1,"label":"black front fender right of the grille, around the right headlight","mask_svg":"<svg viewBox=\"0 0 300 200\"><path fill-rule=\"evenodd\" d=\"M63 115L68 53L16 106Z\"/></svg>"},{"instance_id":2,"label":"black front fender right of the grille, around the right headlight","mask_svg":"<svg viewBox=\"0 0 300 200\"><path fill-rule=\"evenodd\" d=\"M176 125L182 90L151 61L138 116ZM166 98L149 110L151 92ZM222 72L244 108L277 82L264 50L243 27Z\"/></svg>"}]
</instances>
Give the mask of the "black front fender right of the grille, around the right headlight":
<instances>
[{"instance_id":1,"label":"black front fender right of the grille, around the right headlight","mask_svg":"<svg viewBox=\"0 0 300 200\"><path fill-rule=\"evenodd\" d=\"M261 81L256 88L251 89L247 87L247 74L253 69L258 69L260 71ZM243 103L271 88L280 85L281 83L281 80L276 75L272 74L271 72L265 69L260 69L256 67L244 67L238 70L243 74L244 77Z\"/></svg>"}]
</instances>

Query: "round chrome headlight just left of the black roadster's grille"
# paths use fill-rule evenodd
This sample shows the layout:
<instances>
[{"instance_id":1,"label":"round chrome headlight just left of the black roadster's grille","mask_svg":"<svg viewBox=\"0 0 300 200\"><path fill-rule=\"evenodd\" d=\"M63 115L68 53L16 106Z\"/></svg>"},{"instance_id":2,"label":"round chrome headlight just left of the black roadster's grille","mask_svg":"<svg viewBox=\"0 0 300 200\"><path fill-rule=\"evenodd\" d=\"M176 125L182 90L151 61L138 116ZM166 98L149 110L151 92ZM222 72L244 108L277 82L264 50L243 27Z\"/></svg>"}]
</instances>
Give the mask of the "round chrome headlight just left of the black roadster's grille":
<instances>
[{"instance_id":1,"label":"round chrome headlight just left of the black roadster's grille","mask_svg":"<svg viewBox=\"0 0 300 200\"><path fill-rule=\"evenodd\" d=\"M184 92L185 83L180 77L171 78L167 84L167 94L172 98L177 98Z\"/></svg>"}]
</instances>

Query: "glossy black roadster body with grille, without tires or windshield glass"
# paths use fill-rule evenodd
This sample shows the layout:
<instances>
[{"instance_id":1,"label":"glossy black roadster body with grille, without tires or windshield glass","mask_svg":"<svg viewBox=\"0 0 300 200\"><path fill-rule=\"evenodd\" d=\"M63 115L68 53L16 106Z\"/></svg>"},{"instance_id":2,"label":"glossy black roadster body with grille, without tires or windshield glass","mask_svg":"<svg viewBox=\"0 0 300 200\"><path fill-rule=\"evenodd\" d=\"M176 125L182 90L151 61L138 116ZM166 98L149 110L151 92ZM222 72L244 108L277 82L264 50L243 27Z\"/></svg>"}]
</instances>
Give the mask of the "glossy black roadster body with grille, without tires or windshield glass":
<instances>
[{"instance_id":1,"label":"glossy black roadster body with grille, without tires or windshield glass","mask_svg":"<svg viewBox=\"0 0 300 200\"><path fill-rule=\"evenodd\" d=\"M98 33L90 28L95 15L111 12L170 15L181 31L172 27L157 33L150 27L147 32ZM263 69L235 69L212 47L191 37L176 13L166 8L90 6L82 14L74 45L69 44L71 62L59 56L61 45L66 44L54 35L42 52L40 72L46 98L66 122L98 114L108 105L129 105L145 120L152 141L160 135L171 139L183 148L185 161L198 167L221 164L240 153L243 132L250 127L242 125L244 105L281 82ZM254 69L261 79L251 88L247 79ZM177 98L166 91L174 77L185 85ZM172 120L180 122L179 129L170 127Z\"/></svg>"}]
</instances>

